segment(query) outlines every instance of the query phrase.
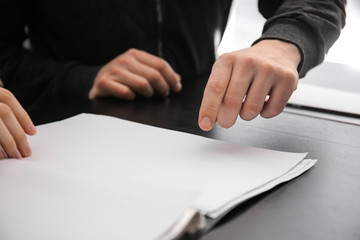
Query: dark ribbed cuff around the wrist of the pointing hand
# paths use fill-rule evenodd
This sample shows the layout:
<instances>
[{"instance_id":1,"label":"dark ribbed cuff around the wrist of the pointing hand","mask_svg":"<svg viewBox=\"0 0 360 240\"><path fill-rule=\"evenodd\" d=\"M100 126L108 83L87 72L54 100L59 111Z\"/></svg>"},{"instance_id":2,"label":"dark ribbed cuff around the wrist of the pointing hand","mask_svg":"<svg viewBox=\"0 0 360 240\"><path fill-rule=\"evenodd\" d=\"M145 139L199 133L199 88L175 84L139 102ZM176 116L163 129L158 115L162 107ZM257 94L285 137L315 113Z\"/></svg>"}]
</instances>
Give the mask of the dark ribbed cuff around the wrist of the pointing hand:
<instances>
[{"instance_id":1,"label":"dark ribbed cuff around the wrist of the pointing hand","mask_svg":"<svg viewBox=\"0 0 360 240\"><path fill-rule=\"evenodd\" d=\"M324 55L319 53L316 41L306 27L291 19L286 19L286 22L283 21L278 20L270 26L265 25L262 36L253 45L266 39L276 39L294 44L301 54L301 61L297 70L299 77L302 78L311 68L323 61ZM321 59L319 56L322 56Z\"/></svg>"}]
</instances>

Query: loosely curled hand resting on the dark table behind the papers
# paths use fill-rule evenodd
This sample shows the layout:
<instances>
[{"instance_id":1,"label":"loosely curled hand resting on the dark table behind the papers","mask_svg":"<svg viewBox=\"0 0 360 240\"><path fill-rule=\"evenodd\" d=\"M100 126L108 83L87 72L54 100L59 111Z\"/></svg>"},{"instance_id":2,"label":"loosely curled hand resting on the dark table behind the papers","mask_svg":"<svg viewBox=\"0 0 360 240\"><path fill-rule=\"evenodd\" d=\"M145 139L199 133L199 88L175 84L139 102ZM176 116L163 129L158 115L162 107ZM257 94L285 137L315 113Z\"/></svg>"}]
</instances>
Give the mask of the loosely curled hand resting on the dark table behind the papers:
<instances>
[{"instance_id":1,"label":"loosely curled hand resting on the dark table behind the papers","mask_svg":"<svg viewBox=\"0 0 360 240\"><path fill-rule=\"evenodd\" d=\"M154 92L167 96L181 90L180 75L163 59L130 49L102 67L89 98L113 96L132 100L136 94L151 97Z\"/></svg>"}]
</instances>

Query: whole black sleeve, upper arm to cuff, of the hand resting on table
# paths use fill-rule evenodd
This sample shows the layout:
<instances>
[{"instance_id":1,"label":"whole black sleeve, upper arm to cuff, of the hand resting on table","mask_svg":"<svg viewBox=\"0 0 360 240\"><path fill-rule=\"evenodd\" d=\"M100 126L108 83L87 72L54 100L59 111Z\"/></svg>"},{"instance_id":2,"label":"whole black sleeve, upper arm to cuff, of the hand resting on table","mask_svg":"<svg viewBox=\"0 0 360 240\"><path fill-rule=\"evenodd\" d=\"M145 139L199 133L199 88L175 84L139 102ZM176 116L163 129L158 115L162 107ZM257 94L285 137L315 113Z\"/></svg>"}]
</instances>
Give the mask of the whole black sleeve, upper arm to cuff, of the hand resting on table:
<instances>
[{"instance_id":1,"label":"whole black sleeve, upper arm to cuff, of the hand resting on table","mask_svg":"<svg viewBox=\"0 0 360 240\"><path fill-rule=\"evenodd\" d=\"M28 0L0 0L0 76L27 109L86 99L98 66L60 62L25 49Z\"/></svg>"}]
</instances>

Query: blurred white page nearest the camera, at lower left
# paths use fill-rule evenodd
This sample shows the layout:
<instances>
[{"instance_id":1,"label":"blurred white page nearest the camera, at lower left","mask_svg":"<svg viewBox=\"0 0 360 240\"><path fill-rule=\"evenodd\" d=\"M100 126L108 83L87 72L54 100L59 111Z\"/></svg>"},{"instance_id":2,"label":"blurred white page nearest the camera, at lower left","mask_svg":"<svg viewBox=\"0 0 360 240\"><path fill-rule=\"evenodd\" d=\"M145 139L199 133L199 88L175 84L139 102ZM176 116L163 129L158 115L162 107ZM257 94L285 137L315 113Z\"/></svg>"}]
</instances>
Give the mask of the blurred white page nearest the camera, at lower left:
<instances>
[{"instance_id":1,"label":"blurred white page nearest the camera, at lower left","mask_svg":"<svg viewBox=\"0 0 360 240\"><path fill-rule=\"evenodd\" d=\"M0 239L157 239L195 200L175 188L0 162Z\"/></svg>"}]
</instances>

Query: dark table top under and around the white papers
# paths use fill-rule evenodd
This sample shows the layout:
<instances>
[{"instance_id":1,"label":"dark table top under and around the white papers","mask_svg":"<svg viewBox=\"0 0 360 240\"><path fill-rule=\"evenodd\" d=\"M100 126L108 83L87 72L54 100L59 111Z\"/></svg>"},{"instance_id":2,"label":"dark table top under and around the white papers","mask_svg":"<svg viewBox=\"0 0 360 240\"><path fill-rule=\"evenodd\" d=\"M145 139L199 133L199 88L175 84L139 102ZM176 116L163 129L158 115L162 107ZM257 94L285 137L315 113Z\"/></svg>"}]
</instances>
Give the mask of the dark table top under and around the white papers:
<instances>
[{"instance_id":1,"label":"dark table top under and around the white papers","mask_svg":"<svg viewBox=\"0 0 360 240\"><path fill-rule=\"evenodd\" d=\"M312 169L240 205L202 239L360 239L359 126L284 112L203 132L197 117L204 81L183 85L168 99L99 99L44 107L30 116L42 124L82 112L105 114L242 145L308 152L319 159Z\"/></svg>"}]
</instances>

